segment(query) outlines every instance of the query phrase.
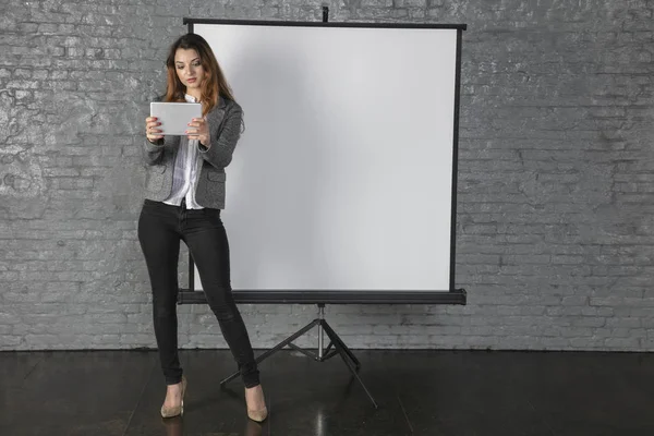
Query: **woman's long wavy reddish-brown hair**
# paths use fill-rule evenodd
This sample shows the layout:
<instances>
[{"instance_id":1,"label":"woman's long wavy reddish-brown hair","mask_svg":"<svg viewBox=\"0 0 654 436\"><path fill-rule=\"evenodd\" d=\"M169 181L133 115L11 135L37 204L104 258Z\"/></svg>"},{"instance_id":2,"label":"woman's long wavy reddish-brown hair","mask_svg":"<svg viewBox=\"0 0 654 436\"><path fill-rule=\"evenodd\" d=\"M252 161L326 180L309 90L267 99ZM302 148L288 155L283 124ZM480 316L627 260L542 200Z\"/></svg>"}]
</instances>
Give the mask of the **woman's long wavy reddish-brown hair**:
<instances>
[{"instance_id":1,"label":"woman's long wavy reddish-brown hair","mask_svg":"<svg viewBox=\"0 0 654 436\"><path fill-rule=\"evenodd\" d=\"M202 68L206 73L206 78L202 83L202 113L206 116L211 109L218 105L218 96L234 100L231 88L229 87L225 74L218 61L214 56L211 47L199 35L185 34L179 37L168 51L166 66L168 69L168 84L166 86L165 101L184 101L184 93L186 87L180 82L177 75L174 65L174 53L179 48L193 49L197 51Z\"/></svg>"}]
</instances>

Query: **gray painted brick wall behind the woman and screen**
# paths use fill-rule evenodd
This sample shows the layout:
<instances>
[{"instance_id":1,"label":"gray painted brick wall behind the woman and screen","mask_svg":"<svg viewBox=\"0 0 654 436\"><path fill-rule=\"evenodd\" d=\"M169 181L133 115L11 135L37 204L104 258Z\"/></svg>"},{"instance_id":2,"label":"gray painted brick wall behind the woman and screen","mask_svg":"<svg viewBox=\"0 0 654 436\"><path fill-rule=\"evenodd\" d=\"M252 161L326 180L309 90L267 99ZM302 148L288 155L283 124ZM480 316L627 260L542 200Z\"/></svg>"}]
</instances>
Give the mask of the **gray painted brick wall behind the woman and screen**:
<instances>
[{"instance_id":1,"label":"gray painted brick wall behind the woman and screen","mask_svg":"<svg viewBox=\"0 0 654 436\"><path fill-rule=\"evenodd\" d=\"M469 304L328 306L346 342L654 350L653 0L0 4L0 349L155 346L135 228L167 46L182 16L319 21L328 4L330 21L469 25L457 227ZM315 316L242 311L256 348ZM206 306L179 314L182 347L226 347Z\"/></svg>"}]
</instances>

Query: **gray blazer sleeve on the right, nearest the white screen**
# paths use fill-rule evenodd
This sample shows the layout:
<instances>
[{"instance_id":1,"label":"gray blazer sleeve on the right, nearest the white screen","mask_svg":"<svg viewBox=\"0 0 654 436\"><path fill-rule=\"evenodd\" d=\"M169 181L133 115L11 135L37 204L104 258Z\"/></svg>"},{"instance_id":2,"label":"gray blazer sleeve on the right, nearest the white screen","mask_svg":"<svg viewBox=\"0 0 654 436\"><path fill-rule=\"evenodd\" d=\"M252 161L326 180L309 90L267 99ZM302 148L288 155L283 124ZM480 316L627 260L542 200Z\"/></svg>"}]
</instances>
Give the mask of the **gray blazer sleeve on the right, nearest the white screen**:
<instances>
[{"instance_id":1,"label":"gray blazer sleeve on the right, nearest the white screen","mask_svg":"<svg viewBox=\"0 0 654 436\"><path fill-rule=\"evenodd\" d=\"M210 134L209 147L198 143L199 155L211 166L218 169L225 168L231 162L234 148L241 137L243 109L234 104L223 122L214 119L207 119L207 122Z\"/></svg>"}]
</instances>

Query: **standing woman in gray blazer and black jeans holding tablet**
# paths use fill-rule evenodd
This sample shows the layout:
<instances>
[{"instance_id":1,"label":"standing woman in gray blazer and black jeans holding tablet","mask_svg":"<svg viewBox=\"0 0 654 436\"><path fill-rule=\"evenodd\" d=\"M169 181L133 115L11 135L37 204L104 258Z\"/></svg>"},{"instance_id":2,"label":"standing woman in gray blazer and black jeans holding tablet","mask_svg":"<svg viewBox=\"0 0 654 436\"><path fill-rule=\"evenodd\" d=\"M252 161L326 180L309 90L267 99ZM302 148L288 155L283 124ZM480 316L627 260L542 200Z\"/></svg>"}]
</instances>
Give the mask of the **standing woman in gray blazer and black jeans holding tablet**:
<instances>
[{"instance_id":1,"label":"standing woman in gray blazer and black jeans holding tablet","mask_svg":"<svg viewBox=\"0 0 654 436\"><path fill-rule=\"evenodd\" d=\"M203 118L189 123L185 136L162 135L158 120L146 119L146 198L138 219L138 241L150 279L155 336L168 385L161 415L183 413L186 389L178 358L175 306L180 241L184 241L239 365L247 415L261 422L267 409L250 338L231 293L229 245L220 219L225 167L241 135L243 112L201 36L187 34L173 43L166 65L164 101L201 102Z\"/></svg>"}]
</instances>

